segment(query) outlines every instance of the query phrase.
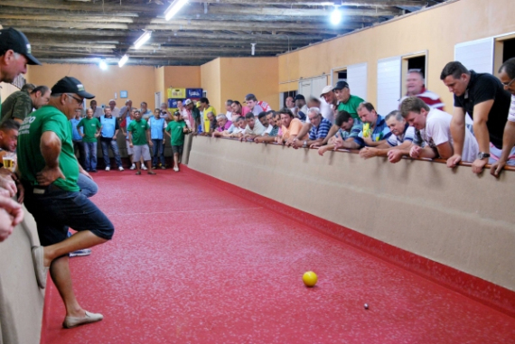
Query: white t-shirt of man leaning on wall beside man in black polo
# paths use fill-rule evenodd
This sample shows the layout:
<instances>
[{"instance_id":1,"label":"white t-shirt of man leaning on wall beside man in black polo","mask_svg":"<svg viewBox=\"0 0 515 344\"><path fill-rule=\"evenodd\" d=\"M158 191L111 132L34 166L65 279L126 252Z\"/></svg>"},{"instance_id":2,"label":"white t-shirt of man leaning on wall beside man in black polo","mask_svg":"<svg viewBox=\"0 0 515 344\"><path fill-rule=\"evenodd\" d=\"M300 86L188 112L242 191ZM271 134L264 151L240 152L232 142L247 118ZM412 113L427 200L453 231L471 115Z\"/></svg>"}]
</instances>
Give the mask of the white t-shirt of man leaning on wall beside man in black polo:
<instances>
[{"instance_id":1,"label":"white t-shirt of man leaning on wall beside man in black polo","mask_svg":"<svg viewBox=\"0 0 515 344\"><path fill-rule=\"evenodd\" d=\"M427 114L426 128L420 130L420 135L430 147L449 142L454 145L451 135L451 120L453 116L444 111L432 108ZM479 146L472 132L465 129L465 140L463 142L462 161L473 163L479 153Z\"/></svg>"}]
</instances>

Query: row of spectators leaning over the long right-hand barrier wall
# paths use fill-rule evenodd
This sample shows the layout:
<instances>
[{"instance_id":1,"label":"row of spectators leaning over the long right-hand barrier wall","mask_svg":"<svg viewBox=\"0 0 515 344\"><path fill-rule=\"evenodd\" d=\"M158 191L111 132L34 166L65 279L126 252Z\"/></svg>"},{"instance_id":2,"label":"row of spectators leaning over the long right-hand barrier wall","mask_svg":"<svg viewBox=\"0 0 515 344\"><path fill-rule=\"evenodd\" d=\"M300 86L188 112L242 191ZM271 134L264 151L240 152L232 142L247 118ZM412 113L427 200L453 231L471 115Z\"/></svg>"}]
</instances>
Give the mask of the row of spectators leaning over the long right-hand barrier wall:
<instances>
[{"instance_id":1,"label":"row of spectators leaning over the long right-hand barrier wall","mask_svg":"<svg viewBox=\"0 0 515 344\"><path fill-rule=\"evenodd\" d=\"M274 111L248 94L246 106L228 100L227 112L216 115L209 103L198 108L205 125L201 135L238 138L256 143L286 144L293 148L359 150L360 156L404 156L445 159L447 166L472 163L474 173L491 163L498 177L506 165L515 166L515 58L506 60L499 78L467 70L449 62L440 79L454 93L453 114L425 88L421 70L408 70L407 94L398 108L379 115L373 104L351 94L346 81L322 89L320 98L286 98L286 107ZM188 100L186 100L188 101Z\"/></svg>"}]
</instances>

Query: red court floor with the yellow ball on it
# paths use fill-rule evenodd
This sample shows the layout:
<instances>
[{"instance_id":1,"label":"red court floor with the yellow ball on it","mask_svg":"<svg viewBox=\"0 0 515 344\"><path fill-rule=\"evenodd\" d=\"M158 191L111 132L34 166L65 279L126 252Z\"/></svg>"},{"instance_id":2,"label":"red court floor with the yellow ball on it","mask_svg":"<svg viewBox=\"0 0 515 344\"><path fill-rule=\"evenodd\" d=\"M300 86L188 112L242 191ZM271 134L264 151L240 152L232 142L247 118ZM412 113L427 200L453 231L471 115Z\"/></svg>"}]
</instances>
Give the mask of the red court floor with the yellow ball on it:
<instances>
[{"instance_id":1,"label":"red court floor with the yellow ball on it","mask_svg":"<svg viewBox=\"0 0 515 344\"><path fill-rule=\"evenodd\" d=\"M70 267L81 305L105 319L61 329L49 283L42 343L515 343L508 315L187 169L157 173L95 175L117 231Z\"/></svg>"}]
</instances>

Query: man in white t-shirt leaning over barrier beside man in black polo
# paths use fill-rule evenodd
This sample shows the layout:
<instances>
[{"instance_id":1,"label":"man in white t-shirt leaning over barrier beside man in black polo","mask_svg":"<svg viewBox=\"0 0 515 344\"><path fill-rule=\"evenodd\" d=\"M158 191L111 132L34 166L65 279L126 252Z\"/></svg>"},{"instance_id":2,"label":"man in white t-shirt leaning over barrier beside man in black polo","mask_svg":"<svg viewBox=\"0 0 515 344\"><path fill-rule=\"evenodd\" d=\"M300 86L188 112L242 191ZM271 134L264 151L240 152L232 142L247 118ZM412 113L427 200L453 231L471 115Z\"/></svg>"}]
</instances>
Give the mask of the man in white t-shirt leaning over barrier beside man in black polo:
<instances>
[{"instance_id":1,"label":"man in white t-shirt leaning over barrier beside man in black polo","mask_svg":"<svg viewBox=\"0 0 515 344\"><path fill-rule=\"evenodd\" d=\"M454 155L451 120L453 116L436 108L430 108L417 97L406 98L400 105L400 112L409 126L420 131L426 147L413 145L409 151L412 158L449 159ZM479 146L472 132L464 130L463 162L473 163L479 153Z\"/></svg>"}]
</instances>

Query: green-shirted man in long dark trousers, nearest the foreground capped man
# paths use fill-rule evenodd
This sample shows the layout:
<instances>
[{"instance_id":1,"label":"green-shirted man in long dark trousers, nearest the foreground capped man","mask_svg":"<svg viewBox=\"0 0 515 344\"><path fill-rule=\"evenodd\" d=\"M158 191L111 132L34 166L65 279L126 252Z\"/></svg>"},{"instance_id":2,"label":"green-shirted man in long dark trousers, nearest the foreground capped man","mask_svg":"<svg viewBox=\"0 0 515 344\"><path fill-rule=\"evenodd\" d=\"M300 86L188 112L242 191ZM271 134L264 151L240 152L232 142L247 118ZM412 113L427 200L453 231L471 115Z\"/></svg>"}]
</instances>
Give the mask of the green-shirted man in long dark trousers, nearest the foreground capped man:
<instances>
[{"instance_id":1,"label":"green-shirted man in long dark trousers, nearest the foreground capped man","mask_svg":"<svg viewBox=\"0 0 515 344\"><path fill-rule=\"evenodd\" d=\"M82 128L82 131L79 129ZM86 117L77 125L77 131L82 136L84 155L86 155L86 171L97 172L97 137L100 135L100 121L93 117L93 109L86 110Z\"/></svg>"}]
</instances>

